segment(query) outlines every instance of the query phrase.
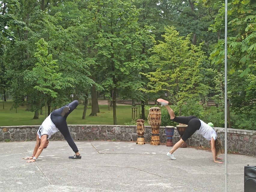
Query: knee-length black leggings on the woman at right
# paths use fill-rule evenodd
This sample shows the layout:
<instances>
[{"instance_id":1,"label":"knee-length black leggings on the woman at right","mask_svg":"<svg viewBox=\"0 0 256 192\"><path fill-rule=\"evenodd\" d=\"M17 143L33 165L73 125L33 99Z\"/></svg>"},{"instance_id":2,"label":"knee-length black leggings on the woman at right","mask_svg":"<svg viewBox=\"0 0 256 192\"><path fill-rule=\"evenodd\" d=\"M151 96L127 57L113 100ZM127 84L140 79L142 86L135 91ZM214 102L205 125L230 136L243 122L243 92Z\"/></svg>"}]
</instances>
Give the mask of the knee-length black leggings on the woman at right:
<instances>
[{"instance_id":1,"label":"knee-length black leggings on the woman at right","mask_svg":"<svg viewBox=\"0 0 256 192\"><path fill-rule=\"evenodd\" d=\"M183 136L181 137L183 141L186 141L201 127L201 122L196 116L175 116L174 119L172 119L172 121L187 125L187 128L184 131Z\"/></svg>"}]
</instances>

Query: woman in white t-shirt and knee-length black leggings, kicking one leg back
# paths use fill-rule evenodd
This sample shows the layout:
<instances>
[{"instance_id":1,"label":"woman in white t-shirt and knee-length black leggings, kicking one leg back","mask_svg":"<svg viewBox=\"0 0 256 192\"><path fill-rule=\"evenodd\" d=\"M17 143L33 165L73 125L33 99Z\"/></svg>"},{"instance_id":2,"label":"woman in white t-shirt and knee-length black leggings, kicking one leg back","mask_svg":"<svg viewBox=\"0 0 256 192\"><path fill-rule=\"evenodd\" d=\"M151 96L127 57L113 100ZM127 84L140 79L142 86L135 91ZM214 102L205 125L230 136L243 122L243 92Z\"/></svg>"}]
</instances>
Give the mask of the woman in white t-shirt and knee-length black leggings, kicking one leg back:
<instances>
[{"instance_id":1,"label":"woman in white t-shirt and knee-length black leggings, kicking one leg back","mask_svg":"<svg viewBox=\"0 0 256 192\"><path fill-rule=\"evenodd\" d=\"M189 137L191 137L195 132L197 132L201 134L204 138L206 138L206 140L211 142L213 161L215 163L223 163L221 161L217 161L217 159L222 159L217 157L222 152L222 143L217 138L216 131L214 131L214 129L211 126L207 125L205 122L203 122L195 116L177 117L175 116L173 110L169 107L168 101L163 99L157 99L157 101L162 106L166 107L172 121L187 125L187 128L184 131L184 134L181 137L181 139L172 147L171 151L166 154L169 158L175 160L176 158L173 156L173 152L175 152Z\"/></svg>"}]
</instances>

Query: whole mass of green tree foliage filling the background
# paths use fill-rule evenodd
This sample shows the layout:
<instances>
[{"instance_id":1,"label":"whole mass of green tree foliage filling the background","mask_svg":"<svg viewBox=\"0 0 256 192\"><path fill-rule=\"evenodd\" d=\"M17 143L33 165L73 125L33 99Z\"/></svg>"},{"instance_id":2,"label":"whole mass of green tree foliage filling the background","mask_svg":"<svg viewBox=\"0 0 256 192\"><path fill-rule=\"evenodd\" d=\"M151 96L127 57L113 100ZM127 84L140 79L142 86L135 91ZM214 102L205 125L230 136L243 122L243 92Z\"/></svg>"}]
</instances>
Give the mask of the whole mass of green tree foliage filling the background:
<instances>
[{"instance_id":1,"label":"whole mass of green tree foliage filling the background","mask_svg":"<svg viewBox=\"0 0 256 192\"><path fill-rule=\"evenodd\" d=\"M90 114L99 113L100 94L111 100L117 124L117 98L146 104L162 97L180 115L223 125L222 1L0 2L0 91L3 101L12 96L12 109L26 102L37 119L43 106L50 114L78 99L85 119L90 97ZM228 102L234 128L242 128L239 113L247 125L255 114L255 19L254 1L228 2ZM202 105L210 99L218 110L207 113Z\"/></svg>"}]
</instances>

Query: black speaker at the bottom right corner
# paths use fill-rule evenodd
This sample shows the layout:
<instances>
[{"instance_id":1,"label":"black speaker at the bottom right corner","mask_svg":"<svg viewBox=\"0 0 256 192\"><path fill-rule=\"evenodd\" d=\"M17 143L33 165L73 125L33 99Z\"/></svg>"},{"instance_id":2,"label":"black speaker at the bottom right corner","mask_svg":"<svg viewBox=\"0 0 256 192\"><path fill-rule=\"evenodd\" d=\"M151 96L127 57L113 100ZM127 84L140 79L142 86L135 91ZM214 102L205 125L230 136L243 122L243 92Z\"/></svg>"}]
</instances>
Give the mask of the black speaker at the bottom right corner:
<instances>
[{"instance_id":1,"label":"black speaker at the bottom right corner","mask_svg":"<svg viewBox=\"0 0 256 192\"><path fill-rule=\"evenodd\" d=\"M245 166L245 192L256 192L256 166Z\"/></svg>"}]
</instances>

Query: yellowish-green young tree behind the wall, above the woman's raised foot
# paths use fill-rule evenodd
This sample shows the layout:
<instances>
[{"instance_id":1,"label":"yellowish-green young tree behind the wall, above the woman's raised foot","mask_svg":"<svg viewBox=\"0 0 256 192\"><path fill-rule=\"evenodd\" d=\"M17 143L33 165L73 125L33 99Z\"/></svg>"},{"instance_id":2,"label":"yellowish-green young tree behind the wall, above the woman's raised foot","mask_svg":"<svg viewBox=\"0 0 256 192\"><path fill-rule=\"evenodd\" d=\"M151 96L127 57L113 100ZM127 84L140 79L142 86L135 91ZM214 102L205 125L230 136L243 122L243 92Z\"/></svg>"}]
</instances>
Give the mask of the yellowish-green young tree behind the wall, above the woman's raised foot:
<instances>
[{"instance_id":1,"label":"yellowish-green young tree behind the wall, above the woman's raised foot","mask_svg":"<svg viewBox=\"0 0 256 192\"><path fill-rule=\"evenodd\" d=\"M174 27L166 27L164 42L159 41L152 48L154 55L150 57L154 71L142 73L150 82L145 92L156 92L180 108L193 98L200 99L206 95L209 86L204 84L203 65L207 62L202 46L190 43L190 36L180 37Z\"/></svg>"}]
</instances>

